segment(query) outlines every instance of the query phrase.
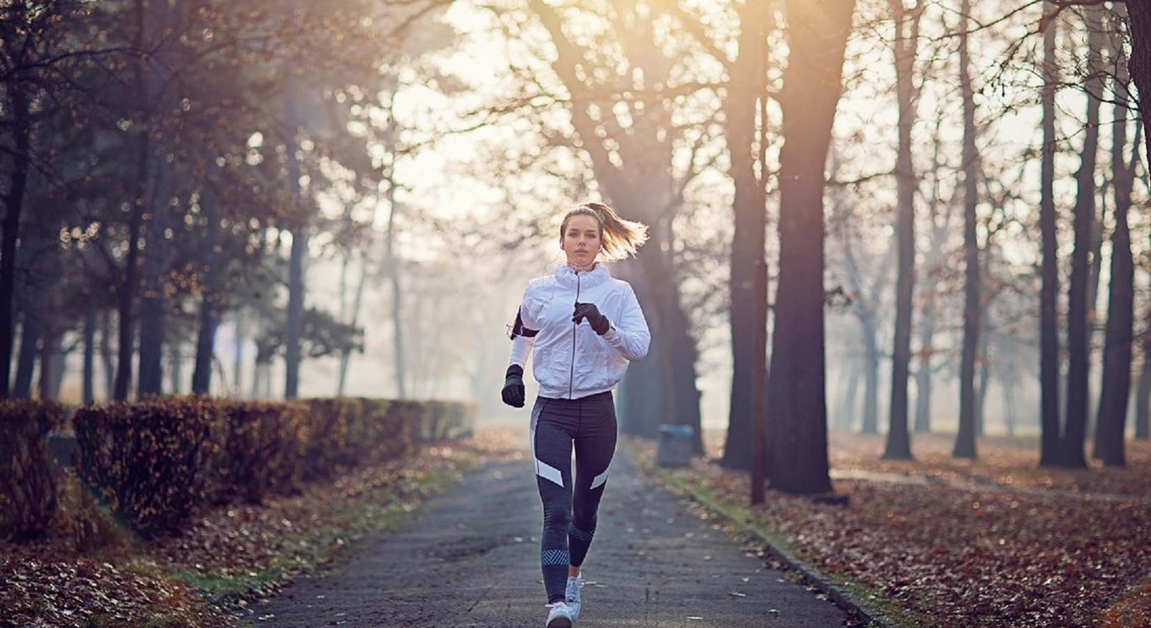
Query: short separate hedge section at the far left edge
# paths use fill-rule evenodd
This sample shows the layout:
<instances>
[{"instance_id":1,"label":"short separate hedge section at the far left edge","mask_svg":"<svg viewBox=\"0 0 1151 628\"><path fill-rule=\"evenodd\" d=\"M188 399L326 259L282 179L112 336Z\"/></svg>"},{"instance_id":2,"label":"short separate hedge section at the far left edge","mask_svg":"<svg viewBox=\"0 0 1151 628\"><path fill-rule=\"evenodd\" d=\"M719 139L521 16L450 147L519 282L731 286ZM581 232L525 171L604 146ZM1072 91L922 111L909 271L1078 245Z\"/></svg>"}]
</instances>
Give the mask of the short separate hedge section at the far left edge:
<instances>
[{"instance_id":1,"label":"short separate hedge section at the far left edge","mask_svg":"<svg viewBox=\"0 0 1151 628\"><path fill-rule=\"evenodd\" d=\"M0 538L43 537L56 513L46 438L63 424L52 402L0 402Z\"/></svg>"}]
</instances>

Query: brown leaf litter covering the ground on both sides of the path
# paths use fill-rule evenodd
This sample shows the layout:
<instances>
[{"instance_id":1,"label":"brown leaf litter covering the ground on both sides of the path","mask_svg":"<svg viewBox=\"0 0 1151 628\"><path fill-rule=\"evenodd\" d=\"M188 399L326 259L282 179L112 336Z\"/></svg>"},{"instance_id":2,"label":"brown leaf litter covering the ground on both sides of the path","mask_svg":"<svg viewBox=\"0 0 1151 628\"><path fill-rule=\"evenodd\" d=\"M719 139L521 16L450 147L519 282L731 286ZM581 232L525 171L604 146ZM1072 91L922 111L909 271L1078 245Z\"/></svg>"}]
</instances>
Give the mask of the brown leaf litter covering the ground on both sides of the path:
<instances>
[{"instance_id":1,"label":"brown leaf litter covering the ground on both sides of the path","mask_svg":"<svg viewBox=\"0 0 1151 628\"><path fill-rule=\"evenodd\" d=\"M670 472L746 508L747 474L717 463L723 437L709 432L708 456ZM96 553L66 534L0 544L0 628L242 626L249 603L387 529L478 460L524 455L523 439L480 430L300 495L214 507L177 537L125 534ZM769 491L749 512L795 555L894 603L912 625L1151 627L1151 444L1129 441L1125 468L1068 470L1039 468L1034 438L983 438L974 461L952 459L947 437L914 439L915 460L889 461L882 437L832 433L847 506ZM650 467L655 444L626 442Z\"/></svg>"}]
</instances>

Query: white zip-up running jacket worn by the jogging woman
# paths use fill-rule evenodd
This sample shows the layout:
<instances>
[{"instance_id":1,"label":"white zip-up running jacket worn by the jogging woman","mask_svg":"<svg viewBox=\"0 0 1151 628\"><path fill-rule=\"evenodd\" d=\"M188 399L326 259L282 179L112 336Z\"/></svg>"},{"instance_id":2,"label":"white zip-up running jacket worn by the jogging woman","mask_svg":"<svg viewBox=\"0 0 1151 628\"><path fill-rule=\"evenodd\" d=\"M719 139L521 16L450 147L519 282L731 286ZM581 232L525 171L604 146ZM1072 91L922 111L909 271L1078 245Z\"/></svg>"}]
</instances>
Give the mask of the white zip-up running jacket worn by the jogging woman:
<instances>
[{"instance_id":1,"label":"white zip-up running jacket worn by the jogging woman","mask_svg":"<svg viewBox=\"0 0 1151 628\"><path fill-rule=\"evenodd\" d=\"M608 332L601 336L587 320L572 323L577 302L595 303L611 321ZM540 396L580 399L612 389L627 363L647 355L650 341L631 285L612 279L603 264L590 272L563 264L527 283L512 328L511 363L524 366L531 354Z\"/></svg>"}]
</instances>

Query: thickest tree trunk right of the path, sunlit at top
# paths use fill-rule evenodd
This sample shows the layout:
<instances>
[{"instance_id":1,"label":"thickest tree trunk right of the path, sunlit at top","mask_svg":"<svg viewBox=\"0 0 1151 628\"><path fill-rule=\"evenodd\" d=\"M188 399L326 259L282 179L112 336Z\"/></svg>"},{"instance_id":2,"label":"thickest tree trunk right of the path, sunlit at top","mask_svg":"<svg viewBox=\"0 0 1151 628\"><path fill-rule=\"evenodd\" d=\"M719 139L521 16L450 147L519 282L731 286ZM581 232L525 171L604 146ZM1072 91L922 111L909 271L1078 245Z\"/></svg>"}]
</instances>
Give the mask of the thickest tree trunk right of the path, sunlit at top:
<instances>
[{"instance_id":1,"label":"thickest tree trunk right of the path, sunlit at top","mask_svg":"<svg viewBox=\"0 0 1151 628\"><path fill-rule=\"evenodd\" d=\"M790 493L831 491L824 363L823 192L854 0L787 0L780 96L779 282L768 393L769 477Z\"/></svg>"}]
</instances>

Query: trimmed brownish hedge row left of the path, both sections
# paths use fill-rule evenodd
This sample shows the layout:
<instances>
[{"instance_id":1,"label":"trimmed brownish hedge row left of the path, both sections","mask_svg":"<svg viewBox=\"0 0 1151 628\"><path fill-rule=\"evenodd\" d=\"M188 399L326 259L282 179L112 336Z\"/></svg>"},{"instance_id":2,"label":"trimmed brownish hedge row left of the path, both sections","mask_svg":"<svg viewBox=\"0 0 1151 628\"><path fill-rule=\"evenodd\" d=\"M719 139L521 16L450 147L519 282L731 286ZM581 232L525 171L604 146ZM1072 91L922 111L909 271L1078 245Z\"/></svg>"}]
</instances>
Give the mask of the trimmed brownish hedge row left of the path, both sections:
<instances>
[{"instance_id":1,"label":"trimmed brownish hedge row left of the path, both sections","mask_svg":"<svg viewBox=\"0 0 1151 628\"><path fill-rule=\"evenodd\" d=\"M76 471L91 494L142 536L175 535L207 506L292 494L306 482L470 433L474 410L361 398L157 396L85 407L73 418ZM0 404L0 536L24 539L48 530L58 487L45 436L61 416L51 403Z\"/></svg>"}]
</instances>

